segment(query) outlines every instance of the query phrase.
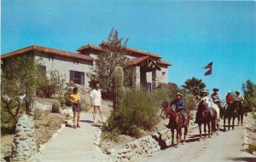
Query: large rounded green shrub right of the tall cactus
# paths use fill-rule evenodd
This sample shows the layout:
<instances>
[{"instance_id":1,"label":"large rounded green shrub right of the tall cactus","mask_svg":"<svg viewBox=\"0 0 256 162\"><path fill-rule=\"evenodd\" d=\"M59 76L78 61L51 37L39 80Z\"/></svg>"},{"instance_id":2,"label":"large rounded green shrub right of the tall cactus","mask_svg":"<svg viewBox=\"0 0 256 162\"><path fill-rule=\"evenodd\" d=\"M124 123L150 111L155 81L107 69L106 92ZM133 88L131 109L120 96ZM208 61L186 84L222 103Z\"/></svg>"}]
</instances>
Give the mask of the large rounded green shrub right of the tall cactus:
<instances>
[{"instance_id":1,"label":"large rounded green shrub right of the tall cactus","mask_svg":"<svg viewBox=\"0 0 256 162\"><path fill-rule=\"evenodd\" d=\"M126 90L119 116L112 113L102 130L119 130L129 136L140 136L140 129L150 130L158 121L157 102L153 93L145 90Z\"/></svg>"}]
</instances>

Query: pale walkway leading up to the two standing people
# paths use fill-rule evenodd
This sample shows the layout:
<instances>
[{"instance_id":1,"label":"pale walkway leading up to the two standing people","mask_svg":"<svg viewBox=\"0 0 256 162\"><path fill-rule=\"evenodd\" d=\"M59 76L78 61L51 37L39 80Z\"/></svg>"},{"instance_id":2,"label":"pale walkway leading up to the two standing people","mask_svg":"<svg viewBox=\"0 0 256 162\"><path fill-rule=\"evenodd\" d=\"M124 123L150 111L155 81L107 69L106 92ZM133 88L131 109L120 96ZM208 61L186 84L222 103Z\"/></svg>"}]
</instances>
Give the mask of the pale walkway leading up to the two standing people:
<instances>
[{"instance_id":1,"label":"pale walkway leading up to the two standing people","mask_svg":"<svg viewBox=\"0 0 256 162\"><path fill-rule=\"evenodd\" d=\"M91 113L81 113L81 128L65 127L44 145L45 148L35 158L40 162L107 161L106 155L94 144L100 128L91 124L91 119Z\"/></svg>"}]
</instances>

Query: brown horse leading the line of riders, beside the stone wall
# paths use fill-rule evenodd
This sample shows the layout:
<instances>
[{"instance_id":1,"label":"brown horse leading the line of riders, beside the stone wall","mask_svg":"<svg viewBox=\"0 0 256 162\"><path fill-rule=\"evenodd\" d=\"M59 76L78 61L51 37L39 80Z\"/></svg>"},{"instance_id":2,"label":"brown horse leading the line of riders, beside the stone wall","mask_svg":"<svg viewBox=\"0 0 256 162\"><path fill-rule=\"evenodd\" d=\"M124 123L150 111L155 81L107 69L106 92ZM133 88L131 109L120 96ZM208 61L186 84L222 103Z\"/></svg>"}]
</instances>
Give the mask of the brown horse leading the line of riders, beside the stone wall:
<instances>
[{"instance_id":1,"label":"brown horse leading the line of riders, beside the stone wall","mask_svg":"<svg viewBox=\"0 0 256 162\"><path fill-rule=\"evenodd\" d=\"M188 133L189 128L189 114L185 113L186 115L186 121L183 123L183 118L180 113L177 113L175 110L173 110L167 103L163 104L163 112L161 113L162 117L165 116L169 117L169 124L168 127L172 130L172 146L174 146L174 130L177 131L177 144L181 142L181 136L182 136L182 128L184 128L184 140L186 140L186 135Z\"/></svg>"}]
</instances>

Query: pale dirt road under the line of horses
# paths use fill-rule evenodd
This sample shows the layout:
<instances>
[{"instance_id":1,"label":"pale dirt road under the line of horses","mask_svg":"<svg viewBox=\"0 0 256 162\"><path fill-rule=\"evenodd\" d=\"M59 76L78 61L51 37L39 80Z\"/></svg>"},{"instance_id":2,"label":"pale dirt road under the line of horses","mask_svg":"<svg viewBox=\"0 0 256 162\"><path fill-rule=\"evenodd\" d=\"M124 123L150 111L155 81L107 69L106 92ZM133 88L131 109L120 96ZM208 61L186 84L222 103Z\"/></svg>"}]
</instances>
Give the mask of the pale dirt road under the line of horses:
<instances>
[{"instance_id":1,"label":"pale dirt road under the line of horses","mask_svg":"<svg viewBox=\"0 0 256 162\"><path fill-rule=\"evenodd\" d=\"M222 126L220 128L223 128ZM199 141L199 130L189 130L189 138L184 145L167 148L153 155L147 162L168 161L256 161L256 157L241 152L243 129L241 126L230 131L220 131L218 136Z\"/></svg>"}]
</instances>

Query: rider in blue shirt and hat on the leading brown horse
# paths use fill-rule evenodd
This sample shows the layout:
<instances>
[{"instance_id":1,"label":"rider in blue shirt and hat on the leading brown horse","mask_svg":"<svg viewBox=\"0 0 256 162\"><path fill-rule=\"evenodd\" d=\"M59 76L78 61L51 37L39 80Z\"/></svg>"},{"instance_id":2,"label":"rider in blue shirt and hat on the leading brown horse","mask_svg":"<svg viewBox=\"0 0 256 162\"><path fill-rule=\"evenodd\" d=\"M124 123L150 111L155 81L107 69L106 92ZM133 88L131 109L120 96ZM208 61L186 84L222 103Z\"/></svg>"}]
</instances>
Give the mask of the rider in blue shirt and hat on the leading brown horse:
<instances>
[{"instance_id":1,"label":"rider in blue shirt and hat on the leading brown horse","mask_svg":"<svg viewBox=\"0 0 256 162\"><path fill-rule=\"evenodd\" d=\"M182 97L183 97L182 94L177 93L177 98L171 102L170 106L172 107L172 105L175 105L176 112L178 112L182 115L183 123L185 123L185 121L186 121L186 115L184 113L185 102L183 101Z\"/></svg>"}]
</instances>

